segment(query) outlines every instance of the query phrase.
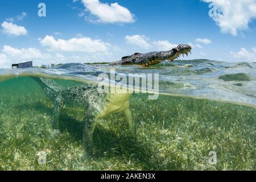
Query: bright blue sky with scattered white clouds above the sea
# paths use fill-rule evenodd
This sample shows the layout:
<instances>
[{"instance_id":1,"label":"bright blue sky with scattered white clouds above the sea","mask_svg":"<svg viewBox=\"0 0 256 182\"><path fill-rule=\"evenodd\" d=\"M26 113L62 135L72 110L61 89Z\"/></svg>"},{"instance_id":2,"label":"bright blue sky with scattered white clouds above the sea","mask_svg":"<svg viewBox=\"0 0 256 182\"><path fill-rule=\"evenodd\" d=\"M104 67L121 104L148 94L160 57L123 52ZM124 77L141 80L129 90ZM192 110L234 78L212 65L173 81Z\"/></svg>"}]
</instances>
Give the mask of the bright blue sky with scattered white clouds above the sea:
<instances>
[{"instance_id":1,"label":"bright blue sky with scattered white clouds above the sea","mask_svg":"<svg viewBox=\"0 0 256 182\"><path fill-rule=\"evenodd\" d=\"M193 48L185 59L255 62L255 19L256 0L1 0L0 68L111 62L178 44Z\"/></svg>"}]
</instances>

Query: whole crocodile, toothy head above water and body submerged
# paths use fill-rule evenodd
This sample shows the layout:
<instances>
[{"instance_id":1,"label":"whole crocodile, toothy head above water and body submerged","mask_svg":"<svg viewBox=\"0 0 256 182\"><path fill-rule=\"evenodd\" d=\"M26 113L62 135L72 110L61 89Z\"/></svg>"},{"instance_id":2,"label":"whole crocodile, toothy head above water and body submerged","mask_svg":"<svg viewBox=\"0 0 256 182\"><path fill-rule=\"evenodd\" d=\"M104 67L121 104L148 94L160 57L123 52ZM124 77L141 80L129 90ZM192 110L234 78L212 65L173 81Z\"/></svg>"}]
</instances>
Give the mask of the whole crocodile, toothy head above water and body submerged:
<instances>
[{"instance_id":1,"label":"whole crocodile, toothy head above water and body submerged","mask_svg":"<svg viewBox=\"0 0 256 182\"><path fill-rule=\"evenodd\" d=\"M110 63L114 65L148 65L158 64L163 60L173 61L182 54L188 55L191 47L188 45L179 45L171 51L150 52L146 54L135 53L131 56L123 57L122 60ZM72 65L68 65L71 67ZM96 126L96 121L99 118L104 118L111 113L123 112L127 118L130 133L136 135L137 129L132 113L129 109L130 93L99 93L97 85L77 85L71 88L63 88L55 81L46 78L32 77L44 93L55 103L52 117L53 130L59 130L59 117L61 109L64 105L67 106L81 106L86 110L84 114L84 132L83 144L85 148L84 157L88 159L93 155L93 132Z\"/></svg>"}]
</instances>

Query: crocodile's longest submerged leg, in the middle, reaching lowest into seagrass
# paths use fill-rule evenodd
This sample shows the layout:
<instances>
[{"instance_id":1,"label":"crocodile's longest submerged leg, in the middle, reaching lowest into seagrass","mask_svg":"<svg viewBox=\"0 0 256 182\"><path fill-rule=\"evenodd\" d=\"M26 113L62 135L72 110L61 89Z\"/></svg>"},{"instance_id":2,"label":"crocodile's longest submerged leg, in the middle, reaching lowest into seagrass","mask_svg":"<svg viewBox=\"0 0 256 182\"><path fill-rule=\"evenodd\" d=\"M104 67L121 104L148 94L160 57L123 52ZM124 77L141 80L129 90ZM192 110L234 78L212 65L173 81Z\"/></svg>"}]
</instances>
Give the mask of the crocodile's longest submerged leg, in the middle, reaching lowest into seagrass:
<instances>
[{"instance_id":1,"label":"crocodile's longest submerged leg, in the middle, reaching lowest into seagrass","mask_svg":"<svg viewBox=\"0 0 256 182\"><path fill-rule=\"evenodd\" d=\"M84 158L88 159L93 154L93 132L96 126L97 111L95 109L88 109L84 118L84 134L82 137L84 143Z\"/></svg>"}]
</instances>

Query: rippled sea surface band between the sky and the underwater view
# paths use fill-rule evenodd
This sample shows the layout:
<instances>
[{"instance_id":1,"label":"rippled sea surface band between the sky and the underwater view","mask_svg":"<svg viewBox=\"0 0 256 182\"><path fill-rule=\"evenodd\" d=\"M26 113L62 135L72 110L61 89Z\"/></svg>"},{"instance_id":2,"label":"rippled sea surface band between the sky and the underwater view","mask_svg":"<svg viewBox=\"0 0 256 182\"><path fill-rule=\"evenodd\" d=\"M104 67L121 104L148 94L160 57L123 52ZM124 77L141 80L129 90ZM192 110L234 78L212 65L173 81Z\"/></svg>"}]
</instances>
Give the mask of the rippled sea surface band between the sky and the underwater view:
<instances>
[{"instance_id":1,"label":"rippled sea surface band between the sky and the underwater view","mask_svg":"<svg viewBox=\"0 0 256 182\"><path fill-rule=\"evenodd\" d=\"M65 69L65 68L69 69ZM0 81L19 76L43 76L98 84L104 65L67 64L59 69L0 70ZM224 63L211 60L180 60L149 68L114 67L116 73L158 73L159 92L256 106L256 63Z\"/></svg>"}]
</instances>

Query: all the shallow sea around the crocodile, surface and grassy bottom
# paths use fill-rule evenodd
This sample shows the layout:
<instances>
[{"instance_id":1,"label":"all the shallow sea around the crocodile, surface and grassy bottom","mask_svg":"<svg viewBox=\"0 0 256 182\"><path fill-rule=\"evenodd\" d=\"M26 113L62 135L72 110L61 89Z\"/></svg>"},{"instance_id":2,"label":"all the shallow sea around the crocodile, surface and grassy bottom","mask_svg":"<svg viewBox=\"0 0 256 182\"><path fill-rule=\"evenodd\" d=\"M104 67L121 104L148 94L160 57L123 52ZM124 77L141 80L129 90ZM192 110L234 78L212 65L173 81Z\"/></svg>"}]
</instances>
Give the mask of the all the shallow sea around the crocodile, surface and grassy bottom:
<instances>
[{"instance_id":1,"label":"all the shallow sea around the crocodile, surface and grassy bottom","mask_svg":"<svg viewBox=\"0 0 256 182\"><path fill-rule=\"evenodd\" d=\"M255 169L256 64L209 60L115 67L126 74L159 73L160 96L158 100L148 100L147 94L131 97L136 139L127 134L122 114L100 119L94 159L85 162L81 140L86 111L65 107L61 133L55 136L54 104L28 76L55 78L68 88L96 84L97 76L110 69L73 64L1 70L0 169ZM44 165L38 162L40 151L47 154ZM208 163L210 151L216 151L217 164Z\"/></svg>"}]
</instances>

